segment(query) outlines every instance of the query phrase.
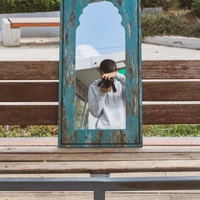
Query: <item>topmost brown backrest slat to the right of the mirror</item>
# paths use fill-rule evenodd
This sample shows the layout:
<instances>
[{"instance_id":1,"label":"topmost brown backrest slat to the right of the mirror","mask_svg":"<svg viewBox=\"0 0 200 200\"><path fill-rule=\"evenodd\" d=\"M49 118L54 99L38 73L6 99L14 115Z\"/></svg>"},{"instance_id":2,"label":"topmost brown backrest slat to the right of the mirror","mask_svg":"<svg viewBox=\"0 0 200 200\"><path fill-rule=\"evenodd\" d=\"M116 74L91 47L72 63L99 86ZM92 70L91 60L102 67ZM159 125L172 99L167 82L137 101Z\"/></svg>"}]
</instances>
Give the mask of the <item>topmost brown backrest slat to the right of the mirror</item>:
<instances>
[{"instance_id":1,"label":"topmost brown backrest slat to the right of the mirror","mask_svg":"<svg viewBox=\"0 0 200 200\"><path fill-rule=\"evenodd\" d=\"M200 60L143 61L143 79L199 79Z\"/></svg>"}]
</instances>

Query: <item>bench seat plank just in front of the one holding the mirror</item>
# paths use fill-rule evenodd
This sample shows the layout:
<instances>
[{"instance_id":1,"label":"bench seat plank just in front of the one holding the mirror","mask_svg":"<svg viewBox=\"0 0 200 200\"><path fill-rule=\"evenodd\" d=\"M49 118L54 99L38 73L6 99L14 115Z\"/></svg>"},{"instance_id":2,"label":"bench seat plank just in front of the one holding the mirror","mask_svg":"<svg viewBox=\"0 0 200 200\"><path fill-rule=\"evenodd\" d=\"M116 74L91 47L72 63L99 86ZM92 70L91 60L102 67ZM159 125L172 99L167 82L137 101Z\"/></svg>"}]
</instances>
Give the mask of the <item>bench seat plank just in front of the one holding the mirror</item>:
<instances>
[{"instance_id":1,"label":"bench seat plank just in front of the one holding the mirror","mask_svg":"<svg viewBox=\"0 0 200 200\"><path fill-rule=\"evenodd\" d=\"M74 153L74 154L1 154L0 162L66 162L66 161L162 161L200 160L199 153Z\"/></svg>"}]
</instances>

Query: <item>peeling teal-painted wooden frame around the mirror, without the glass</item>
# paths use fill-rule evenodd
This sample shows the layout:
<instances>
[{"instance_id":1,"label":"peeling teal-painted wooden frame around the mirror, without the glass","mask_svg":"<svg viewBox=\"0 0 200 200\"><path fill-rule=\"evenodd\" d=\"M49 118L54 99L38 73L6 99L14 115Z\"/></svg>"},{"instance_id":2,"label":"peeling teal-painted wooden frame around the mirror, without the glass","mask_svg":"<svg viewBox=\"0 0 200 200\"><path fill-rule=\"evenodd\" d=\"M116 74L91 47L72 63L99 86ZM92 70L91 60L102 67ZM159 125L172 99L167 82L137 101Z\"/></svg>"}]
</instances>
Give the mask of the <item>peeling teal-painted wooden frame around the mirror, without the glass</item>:
<instances>
[{"instance_id":1,"label":"peeling teal-painted wooden frame around the mirror, without the glass","mask_svg":"<svg viewBox=\"0 0 200 200\"><path fill-rule=\"evenodd\" d=\"M76 29L83 9L103 0L61 0L58 146L142 147L140 0L107 0L122 16L126 37L126 129L75 129Z\"/></svg>"}]
</instances>

